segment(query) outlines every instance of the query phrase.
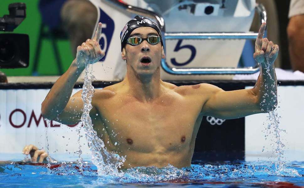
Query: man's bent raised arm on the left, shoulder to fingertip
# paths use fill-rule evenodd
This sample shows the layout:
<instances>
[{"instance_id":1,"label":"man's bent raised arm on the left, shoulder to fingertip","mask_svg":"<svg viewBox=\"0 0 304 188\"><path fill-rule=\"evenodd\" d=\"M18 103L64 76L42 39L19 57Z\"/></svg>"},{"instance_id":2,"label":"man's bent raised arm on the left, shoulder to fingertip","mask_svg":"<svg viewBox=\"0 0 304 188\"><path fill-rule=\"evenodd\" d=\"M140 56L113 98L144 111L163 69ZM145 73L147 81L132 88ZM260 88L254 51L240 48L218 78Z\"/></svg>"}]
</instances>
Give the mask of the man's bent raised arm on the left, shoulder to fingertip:
<instances>
[{"instance_id":1,"label":"man's bent raised arm on the left, shoulder to fingertip","mask_svg":"<svg viewBox=\"0 0 304 188\"><path fill-rule=\"evenodd\" d=\"M41 104L41 113L44 118L55 120L65 124L75 124L80 121L83 101L81 91L71 97L73 87L82 71L85 69L85 61L93 64L104 56L100 49L99 38L102 24L99 23L93 39L88 39L77 47L76 59L69 69L55 82ZM92 109L95 111L96 109ZM95 113L95 112L93 112Z\"/></svg>"}]
</instances>

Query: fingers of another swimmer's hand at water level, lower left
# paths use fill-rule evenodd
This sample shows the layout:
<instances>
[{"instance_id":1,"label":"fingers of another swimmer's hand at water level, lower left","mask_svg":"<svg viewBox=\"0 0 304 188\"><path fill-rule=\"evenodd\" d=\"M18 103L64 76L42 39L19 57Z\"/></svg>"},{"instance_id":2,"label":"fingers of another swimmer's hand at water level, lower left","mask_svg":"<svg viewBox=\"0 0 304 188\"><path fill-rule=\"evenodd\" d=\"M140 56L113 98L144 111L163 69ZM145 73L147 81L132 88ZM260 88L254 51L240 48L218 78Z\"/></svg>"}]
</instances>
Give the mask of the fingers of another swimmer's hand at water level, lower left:
<instances>
[{"instance_id":1,"label":"fingers of another swimmer's hand at water level, lower left","mask_svg":"<svg viewBox=\"0 0 304 188\"><path fill-rule=\"evenodd\" d=\"M33 163L43 163L43 161L46 159L46 157L49 157L50 162L54 162L54 159L52 159L44 150L39 150L35 145L30 144L23 148L22 153L25 155L30 154L32 162Z\"/></svg>"}]
</instances>

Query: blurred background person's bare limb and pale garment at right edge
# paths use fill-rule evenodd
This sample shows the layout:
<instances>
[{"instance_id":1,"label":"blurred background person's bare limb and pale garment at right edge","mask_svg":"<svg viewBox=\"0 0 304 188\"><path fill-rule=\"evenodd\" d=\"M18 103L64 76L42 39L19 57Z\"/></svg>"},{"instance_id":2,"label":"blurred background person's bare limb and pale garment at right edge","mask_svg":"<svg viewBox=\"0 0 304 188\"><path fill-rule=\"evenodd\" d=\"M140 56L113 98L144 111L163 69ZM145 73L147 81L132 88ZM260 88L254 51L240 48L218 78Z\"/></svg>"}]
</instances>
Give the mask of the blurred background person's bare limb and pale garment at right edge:
<instances>
[{"instance_id":1,"label":"blurred background person's bare limb and pale garment at right edge","mask_svg":"<svg viewBox=\"0 0 304 188\"><path fill-rule=\"evenodd\" d=\"M289 56L293 70L304 72L304 1L291 0L287 35Z\"/></svg>"}]
</instances>

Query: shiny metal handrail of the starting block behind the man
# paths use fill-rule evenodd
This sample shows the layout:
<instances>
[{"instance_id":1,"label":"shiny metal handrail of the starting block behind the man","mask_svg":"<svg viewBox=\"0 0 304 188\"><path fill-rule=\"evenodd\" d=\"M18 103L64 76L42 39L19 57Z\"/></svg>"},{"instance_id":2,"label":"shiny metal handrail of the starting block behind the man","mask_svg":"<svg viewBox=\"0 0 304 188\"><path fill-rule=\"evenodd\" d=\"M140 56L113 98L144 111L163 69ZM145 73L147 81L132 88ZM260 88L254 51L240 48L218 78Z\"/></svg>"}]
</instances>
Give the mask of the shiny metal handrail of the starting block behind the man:
<instances>
[{"instance_id":1,"label":"shiny metal handrail of the starting block behind the man","mask_svg":"<svg viewBox=\"0 0 304 188\"><path fill-rule=\"evenodd\" d=\"M128 5L123 3L120 0L106 0L116 7L121 8L127 12L139 14L146 16L148 18L155 19L161 32L163 34L163 45L164 50L166 49L166 39L256 39L258 33L166 33L165 32L165 23L162 16L157 13ZM261 18L261 24L267 21L266 9L262 4L257 4L256 10L259 12ZM265 29L265 37L267 36L267 30ZM163 70L169 74L176 75L204 75L204 74L253 74L259 71L259 65L257 64L254 67L245 67L245 68L174 68L170 67L165 59L162 59L161 66Z\"/></svg>"}]
</instances>

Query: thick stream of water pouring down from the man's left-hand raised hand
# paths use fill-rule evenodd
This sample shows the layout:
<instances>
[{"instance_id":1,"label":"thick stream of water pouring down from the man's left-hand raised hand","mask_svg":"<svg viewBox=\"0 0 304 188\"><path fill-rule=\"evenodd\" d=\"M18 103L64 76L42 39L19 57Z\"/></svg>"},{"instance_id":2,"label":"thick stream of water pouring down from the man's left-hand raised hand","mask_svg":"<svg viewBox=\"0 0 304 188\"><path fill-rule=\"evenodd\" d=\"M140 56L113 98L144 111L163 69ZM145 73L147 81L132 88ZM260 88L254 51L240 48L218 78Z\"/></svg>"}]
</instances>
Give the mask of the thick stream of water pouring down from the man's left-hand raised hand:
<instances>
[{"instance_id":1,"label":"thick stream of water pouring down from the man's left-hand raised hand","mask_svg":"<svg viewBox=\"0 0 304 188\"><path fill-rule=\"evenodd\" d=\"M93 129L91 117L89 115L92 109L92 97L94 95L94 87L92 81L95 78L91 70L89 72L89 60L85 60L85 78L83 83L83 92L81 98L83 100L83 114L81 122L84 127L85 137L88 141L88 146L92 152L92 162L97 166L99 175L118 175L118 168L125 162L124 157L118 154L110 153L106 150L104 142L97 136Z\"/></svg>"}]
</instances>

